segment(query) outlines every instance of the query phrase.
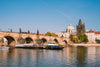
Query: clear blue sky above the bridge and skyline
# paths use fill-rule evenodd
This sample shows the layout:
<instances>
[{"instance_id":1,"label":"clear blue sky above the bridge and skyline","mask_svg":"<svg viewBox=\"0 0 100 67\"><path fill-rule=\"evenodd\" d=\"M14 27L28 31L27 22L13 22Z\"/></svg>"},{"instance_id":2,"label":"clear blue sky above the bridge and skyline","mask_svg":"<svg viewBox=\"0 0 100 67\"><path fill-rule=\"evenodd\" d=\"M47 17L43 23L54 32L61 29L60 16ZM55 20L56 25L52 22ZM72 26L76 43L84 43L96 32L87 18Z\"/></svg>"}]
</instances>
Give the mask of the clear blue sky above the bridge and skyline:
<instances>
[{"instance_id":1,"label":"clear blue sky above the bridge and skyline","mask_svg":"<svg viewBox=\"0 0 100 67\"><path fill-rule=\"evenodd\" d=\"M79 19L86 30L100 31L100 0L0 0L0 30L40 33L76 30Z\"/></svg>"}]
</instances>

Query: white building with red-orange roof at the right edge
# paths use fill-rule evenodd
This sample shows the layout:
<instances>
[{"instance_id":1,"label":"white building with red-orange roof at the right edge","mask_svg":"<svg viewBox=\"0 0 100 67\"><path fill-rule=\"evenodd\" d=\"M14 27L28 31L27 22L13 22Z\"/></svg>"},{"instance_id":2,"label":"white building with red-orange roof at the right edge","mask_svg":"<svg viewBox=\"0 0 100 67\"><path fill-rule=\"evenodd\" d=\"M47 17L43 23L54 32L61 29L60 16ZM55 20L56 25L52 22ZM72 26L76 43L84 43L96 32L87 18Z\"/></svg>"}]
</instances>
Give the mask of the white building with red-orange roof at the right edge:
<instances>
[{"instance_id":1,"label":"white building with red-orange roof at the right edge","mask_svg":"<svg viewBox=\"0 0 100 67\"><path fill-rule=\"evenodd\" d=\"M95 39L100 40L100 31L90 30L90 31L86 32L85 34L88 36L88 40L90 43L95 43Z\"/></svg>"}]
</instances>

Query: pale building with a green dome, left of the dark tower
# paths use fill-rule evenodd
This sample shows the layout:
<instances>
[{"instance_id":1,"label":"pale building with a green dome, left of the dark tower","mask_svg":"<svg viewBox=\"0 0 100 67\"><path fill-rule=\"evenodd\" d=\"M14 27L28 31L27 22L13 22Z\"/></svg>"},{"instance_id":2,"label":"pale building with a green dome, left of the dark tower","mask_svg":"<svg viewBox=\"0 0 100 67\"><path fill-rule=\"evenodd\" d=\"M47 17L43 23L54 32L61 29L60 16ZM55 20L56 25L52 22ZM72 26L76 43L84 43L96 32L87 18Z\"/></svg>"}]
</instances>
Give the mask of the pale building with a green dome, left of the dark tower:
<instances>
[{"instance_id":1,"label":"pale building with a green dome, left of the dark tower","mask_svg":"<svg viewBox=\"0 0 100 67\"><path fill-rule=\"evenodd\" d=\"M74 27L71 24L69 24L66 31L59 32L59 33L57 33L57 35L58 35L58 37L69 38L69 36L74 32L75 32Z\"/></svg>"}]
</instances>

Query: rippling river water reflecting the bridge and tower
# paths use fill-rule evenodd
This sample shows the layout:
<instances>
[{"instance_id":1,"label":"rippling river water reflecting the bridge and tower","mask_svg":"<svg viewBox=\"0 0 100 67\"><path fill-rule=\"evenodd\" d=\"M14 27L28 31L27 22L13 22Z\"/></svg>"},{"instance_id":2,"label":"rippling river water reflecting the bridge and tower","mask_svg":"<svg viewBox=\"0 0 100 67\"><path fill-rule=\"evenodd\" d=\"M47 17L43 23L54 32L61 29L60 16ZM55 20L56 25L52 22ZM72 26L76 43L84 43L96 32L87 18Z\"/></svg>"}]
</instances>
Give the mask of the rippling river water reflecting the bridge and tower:
<instances>
[{"instance_id":1,"label":"rippling river water reflecting the bridge and tower","mask_svg":"<svg viewBox=\"0 0 100 67\"><path fill-rule=\"evenodd\" d=\"M100 67L100 47L0 50L0 67Z\"/></svg>"}]
</instances>

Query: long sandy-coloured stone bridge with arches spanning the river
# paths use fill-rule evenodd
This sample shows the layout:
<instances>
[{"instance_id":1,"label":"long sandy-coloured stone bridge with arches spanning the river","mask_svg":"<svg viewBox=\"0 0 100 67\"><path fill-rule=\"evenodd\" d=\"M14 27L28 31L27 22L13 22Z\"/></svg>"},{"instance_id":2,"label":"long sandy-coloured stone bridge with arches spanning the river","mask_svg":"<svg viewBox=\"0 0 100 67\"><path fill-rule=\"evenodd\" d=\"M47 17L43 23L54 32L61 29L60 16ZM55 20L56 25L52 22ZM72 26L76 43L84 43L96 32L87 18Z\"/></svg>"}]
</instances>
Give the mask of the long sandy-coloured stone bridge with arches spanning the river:
<instances>
[{"instance_id":1,"label":"long sandy-coloured stone bridge with arches spanning the river","mask_svg":"<svg viewBox=\"0 0 100 67\"><path fill-rule=\"evenodd\" d=\"M41 40L41 44L47 44L49 41L53 41L60 45L67 45L70 42L69 38L23 34L23 33L6 32L6 31L0 31L0 38L6 38L7 44L9 46L15 46L16 44L25 44L25 43L37 43L38 40Z\"/></svg>"}]
</instances>

